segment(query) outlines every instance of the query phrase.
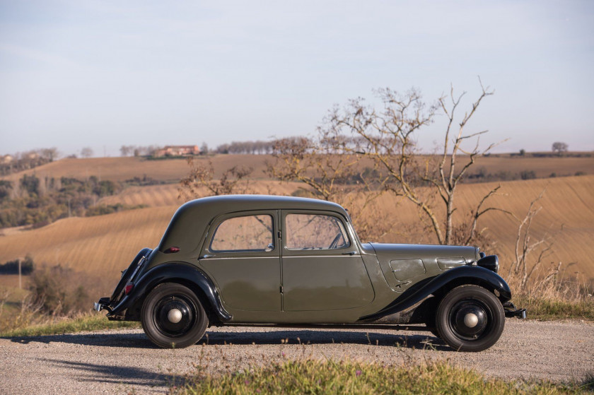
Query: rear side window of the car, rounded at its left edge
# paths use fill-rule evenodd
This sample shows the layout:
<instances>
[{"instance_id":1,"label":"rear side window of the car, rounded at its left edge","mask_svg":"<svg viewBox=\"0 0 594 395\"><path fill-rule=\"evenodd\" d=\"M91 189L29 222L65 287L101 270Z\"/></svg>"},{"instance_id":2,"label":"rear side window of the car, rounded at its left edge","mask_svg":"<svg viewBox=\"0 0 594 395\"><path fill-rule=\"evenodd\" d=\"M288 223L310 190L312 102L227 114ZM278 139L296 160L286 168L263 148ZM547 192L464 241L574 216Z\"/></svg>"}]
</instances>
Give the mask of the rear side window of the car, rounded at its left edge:
<instances>
[{"instance_id":1,"label":"rear side window of the car, rounded at its left edge","mask_svg":"<svg viewBox=\"0 0 594 395\"><path fill-rule=\"evenodd\" d=\"M224 220L215 230L212 252L272 251L272 216L243 216Z\"/></svg>"}]
</instances>

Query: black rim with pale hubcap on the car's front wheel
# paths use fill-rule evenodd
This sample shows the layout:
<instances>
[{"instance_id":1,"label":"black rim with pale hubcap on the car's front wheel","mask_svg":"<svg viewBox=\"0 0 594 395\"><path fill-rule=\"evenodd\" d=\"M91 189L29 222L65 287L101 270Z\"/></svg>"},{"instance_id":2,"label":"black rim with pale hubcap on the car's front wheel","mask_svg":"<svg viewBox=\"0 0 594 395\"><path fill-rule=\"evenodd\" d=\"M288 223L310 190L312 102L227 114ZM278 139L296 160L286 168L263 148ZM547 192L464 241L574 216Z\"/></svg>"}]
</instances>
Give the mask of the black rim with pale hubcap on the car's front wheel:
<instances>
[{"instance_id":1,"label":"black rim with pale hubcap on the car's front wheel","mask_svg":"<svg viewBox=\"0 0 594 395\"><path fill-rule=\"evenodd\" d=\"M489 307L476 299L460 300L450 309L448 317L450 329L464 341L475 341L487 334L492 321Z\"/></svg>"}]
</instances>

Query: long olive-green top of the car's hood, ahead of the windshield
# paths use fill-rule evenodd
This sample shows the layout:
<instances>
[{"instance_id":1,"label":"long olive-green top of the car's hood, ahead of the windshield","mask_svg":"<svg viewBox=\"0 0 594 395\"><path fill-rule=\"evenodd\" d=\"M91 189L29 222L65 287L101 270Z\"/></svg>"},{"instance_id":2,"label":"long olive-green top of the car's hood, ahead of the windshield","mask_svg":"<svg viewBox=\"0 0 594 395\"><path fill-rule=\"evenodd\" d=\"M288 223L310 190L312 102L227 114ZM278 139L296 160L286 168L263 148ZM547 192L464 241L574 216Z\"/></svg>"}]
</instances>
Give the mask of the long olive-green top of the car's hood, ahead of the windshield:
<instances>
[{"instance_id":1,"label":"long olive-green top of the car's hood, ahead of the windshield","mask_svg":"<svg viewBox=\"0 0 594 395\"><path fill-rule=\"evenodd\" d=\"M426 263L429 261L458 261L459 264L469 264L480 258L477 247L383 243L368 243L368 245L373 247L380 262L389 262L396 259L421 259Z\"/></svg>"}]
</instances>

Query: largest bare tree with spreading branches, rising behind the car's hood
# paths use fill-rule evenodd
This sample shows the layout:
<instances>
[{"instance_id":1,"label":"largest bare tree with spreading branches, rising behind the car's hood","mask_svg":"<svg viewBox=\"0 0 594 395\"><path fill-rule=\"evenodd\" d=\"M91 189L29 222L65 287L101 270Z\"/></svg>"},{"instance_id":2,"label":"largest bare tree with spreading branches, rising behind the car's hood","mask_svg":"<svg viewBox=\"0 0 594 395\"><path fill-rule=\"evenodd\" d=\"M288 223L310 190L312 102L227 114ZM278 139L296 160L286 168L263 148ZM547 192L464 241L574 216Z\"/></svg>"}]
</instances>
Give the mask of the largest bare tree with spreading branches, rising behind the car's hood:
<instances>
[{"instance_id":1,"label":"largest bare tree with spreading branches, rising behind the car's hood","mask_svg":"<svg viewBox=\"0 0 594 395\"><path fill-rule=\"evenodd\" d=\"M480 82L480 80L479 80ZM451 244L455 230L455 196L458 184L477 156L484 155L494 147L489 144L479 148L479 138L487 131L465 133L465 126L477 111L484 98L492 95L484 88L469 111L455 122L455 112L465 93L442 97L427 106L417 90L399 94L390 88L377 91L383 108L376 110L365 104L362 98L351 100L340 110L335 107L327 118L327 134L333 136L355 136L355 146L347 146L351 152L371 158L382 172L388 175L387 189L397 196L411 201L421 213L421 218L436 236L439 244ZM436 112L445 114L448 122L443 134L443 145L437 155L423 155L417 146L417 134L431 124ZM458 123L455 126L455 123ZM458 130L453 129L457 127ZM489 197L496 194L496 187L489 191L472 211L472 221L462 239L465 244L477 235L478 219L485 213L498 208L483 208ZM437 197L437 199L434 199ZM442 209L437 202L441 201ZM442 214L443 213L443 214Z\"/></svg>"}]
</instances>

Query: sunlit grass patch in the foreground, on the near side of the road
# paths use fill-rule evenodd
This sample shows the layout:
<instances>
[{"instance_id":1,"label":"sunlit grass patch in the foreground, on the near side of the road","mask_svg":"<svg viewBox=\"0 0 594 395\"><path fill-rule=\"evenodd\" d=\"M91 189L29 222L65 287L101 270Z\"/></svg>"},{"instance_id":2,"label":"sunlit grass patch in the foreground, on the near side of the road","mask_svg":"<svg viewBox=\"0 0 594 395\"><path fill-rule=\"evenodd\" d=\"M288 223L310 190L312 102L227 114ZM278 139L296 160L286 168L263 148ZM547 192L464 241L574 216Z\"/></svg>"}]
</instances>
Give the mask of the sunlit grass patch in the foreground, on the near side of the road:
<instances>
[{"instance_id":1,"label":"sunlit grass patch in the foreground, on the near side of the road","mask_svg":"<svg viewBox=\"0 0 594 395\"><path fill-rule=\"evenodd\" d=\"M582 394L594 382L505 382L448 362L383 366L332 360L287 360L250 372L187 375L170 394Z\"/></svg>"}]
</instances>

